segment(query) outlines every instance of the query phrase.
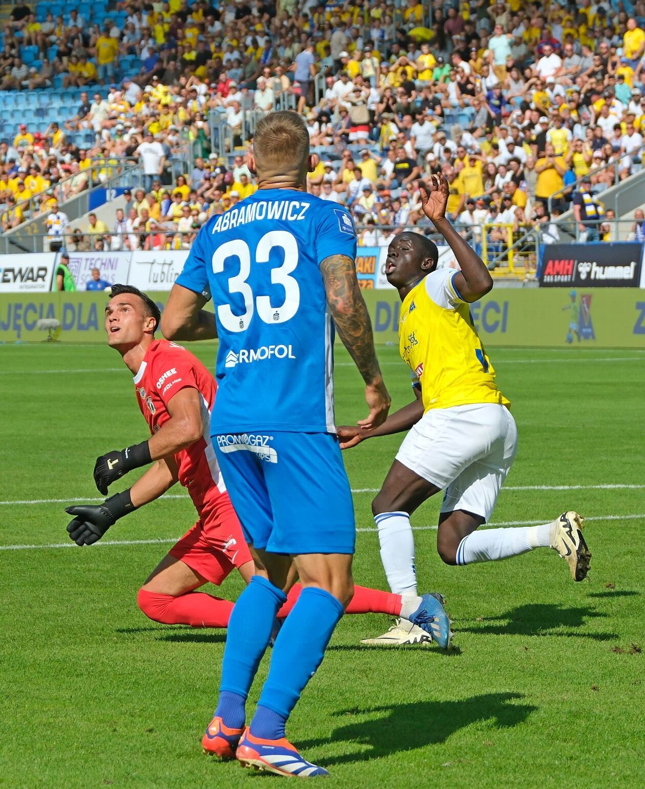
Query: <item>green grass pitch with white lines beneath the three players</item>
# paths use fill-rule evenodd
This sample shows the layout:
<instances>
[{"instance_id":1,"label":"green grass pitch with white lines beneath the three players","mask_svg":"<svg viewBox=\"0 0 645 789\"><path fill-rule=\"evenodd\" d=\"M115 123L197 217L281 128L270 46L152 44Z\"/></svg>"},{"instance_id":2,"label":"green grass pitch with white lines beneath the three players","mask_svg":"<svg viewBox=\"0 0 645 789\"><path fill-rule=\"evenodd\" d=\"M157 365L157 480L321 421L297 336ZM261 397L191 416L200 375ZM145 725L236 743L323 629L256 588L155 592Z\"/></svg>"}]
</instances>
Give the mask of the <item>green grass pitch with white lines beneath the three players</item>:
<instances>
[{"instance_id":1,"label":"green grass pitch with white lines beneath the three players","mask_svg":"<svg viewBox=\"0 0 645 789\"><path fill-rule=\"evenodd\" d=\"M379 353L393 407L402 406L411 398L407 370L396 349ZM215 349L197 354L212 365ZM413 518L420 586L447 596L455 649L363 648L360 638L381 633L388 619L341 621L288 728L338 786L643 785L645 353L502 348L491 356L519 427L493 522L546 522L579 510L590 577L576 584L546 549L446 567L435 549L439 502L422 507ZM366 414L361 382L347 354L336 357L337 419L355 421ZM158 625L137 609L139 585L194 521L189 500L162 499L107 535L159 544L54 547L68 539L58 499L98 496L96 456L146 435L118 354L64 343L0 346L0 402L0 785L184 789L262 780L209 760L199 746L225 632ZM346 454L361 530L354 575L364 585L385 588L385 579L373 494L358 491L379 487L399 439ZM231 577L221 594L241 589ZM268 656L249 708L267 665Z\"/></svg>"}]
</instances>

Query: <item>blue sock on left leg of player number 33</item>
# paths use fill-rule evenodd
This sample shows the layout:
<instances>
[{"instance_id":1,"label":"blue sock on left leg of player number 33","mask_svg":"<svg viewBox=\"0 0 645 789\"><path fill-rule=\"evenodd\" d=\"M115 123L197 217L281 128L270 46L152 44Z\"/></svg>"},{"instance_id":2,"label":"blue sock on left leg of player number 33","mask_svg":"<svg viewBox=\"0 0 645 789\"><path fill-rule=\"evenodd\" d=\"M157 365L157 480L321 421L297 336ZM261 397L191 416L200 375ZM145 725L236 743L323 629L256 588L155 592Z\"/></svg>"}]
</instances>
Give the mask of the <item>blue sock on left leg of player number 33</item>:
<instances>
[{"instance_id":1,"label":"blue sock on left leg of player number 33","mask_svg":"<svg viewBox=\"0 0 645 789\"><path fill-rule=\"evenodd\" d=\"M215 711L225 726L239 728L244 724L249 688L266 652L276 614L286 600L282 589L261 575L254 575L231 611Z\"/></svg>"}]
</instances>

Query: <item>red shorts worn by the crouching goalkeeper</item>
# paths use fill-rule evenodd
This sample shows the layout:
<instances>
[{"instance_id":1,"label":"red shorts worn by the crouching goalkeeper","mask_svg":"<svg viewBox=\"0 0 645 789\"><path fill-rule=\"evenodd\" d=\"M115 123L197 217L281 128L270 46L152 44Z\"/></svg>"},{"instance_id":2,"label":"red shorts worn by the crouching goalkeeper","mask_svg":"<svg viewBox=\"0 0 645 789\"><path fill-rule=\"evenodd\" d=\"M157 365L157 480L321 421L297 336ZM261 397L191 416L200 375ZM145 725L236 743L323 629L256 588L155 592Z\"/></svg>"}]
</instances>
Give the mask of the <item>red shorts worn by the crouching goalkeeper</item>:
<instances>
[{"instance_id":1,"label":"red shorts worn by the crouching goalkeeper","mask_svg":"<svg viewBox=\"0 0 645 789\"><path fill-rule=\"evenodd\" d=\"M234 567L253 561L228 493L218 497L215 507L201 513L170 554L218 586Z\"/></svg>"}]
</instances>

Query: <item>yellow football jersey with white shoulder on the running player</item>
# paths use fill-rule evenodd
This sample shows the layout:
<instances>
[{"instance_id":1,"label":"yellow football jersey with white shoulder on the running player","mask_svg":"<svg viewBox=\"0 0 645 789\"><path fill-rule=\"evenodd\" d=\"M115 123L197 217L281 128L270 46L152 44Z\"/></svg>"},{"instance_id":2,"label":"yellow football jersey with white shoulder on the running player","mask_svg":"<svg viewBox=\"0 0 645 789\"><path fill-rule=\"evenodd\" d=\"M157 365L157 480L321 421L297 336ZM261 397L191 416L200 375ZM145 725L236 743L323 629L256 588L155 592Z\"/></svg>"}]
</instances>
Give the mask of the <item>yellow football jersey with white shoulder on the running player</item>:
<instances>
[{"instance_id":1,"label":"yellow football jersey with white shoulder on the running player","mask_svg":"<svg viewBox=\"0 0 645 789\"><path fill-rule=\"evenodd\" d=\"M399 352L431 408L510 402L495 385L495 370L453 284L456 271L432 271L401 305Z\"/></svg>"}]
</instances>

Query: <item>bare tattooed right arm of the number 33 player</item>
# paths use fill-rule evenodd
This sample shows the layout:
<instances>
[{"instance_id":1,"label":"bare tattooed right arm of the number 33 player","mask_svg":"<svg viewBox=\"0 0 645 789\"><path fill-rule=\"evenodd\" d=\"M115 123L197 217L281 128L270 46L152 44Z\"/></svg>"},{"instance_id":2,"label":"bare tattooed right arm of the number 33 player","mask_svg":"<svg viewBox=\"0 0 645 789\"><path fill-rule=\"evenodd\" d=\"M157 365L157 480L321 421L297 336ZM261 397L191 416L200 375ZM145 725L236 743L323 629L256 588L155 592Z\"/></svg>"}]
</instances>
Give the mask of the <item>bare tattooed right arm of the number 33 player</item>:
<instances>
[{"instance_id":1,"label":"bare tattooed right arm of the number 33 player","mask_svg":"<svg viewBox=\"0 0 645 789\"><path fill-rule=\"evenodd\" d=\"M366 383L369 416L358 424L366 430L377 428L388 416L390 396L378 366L372 324L358 287L354 260L347 255L331 255L322 261L321 273L336 330Z\"/></svg>"}]
</instances>

